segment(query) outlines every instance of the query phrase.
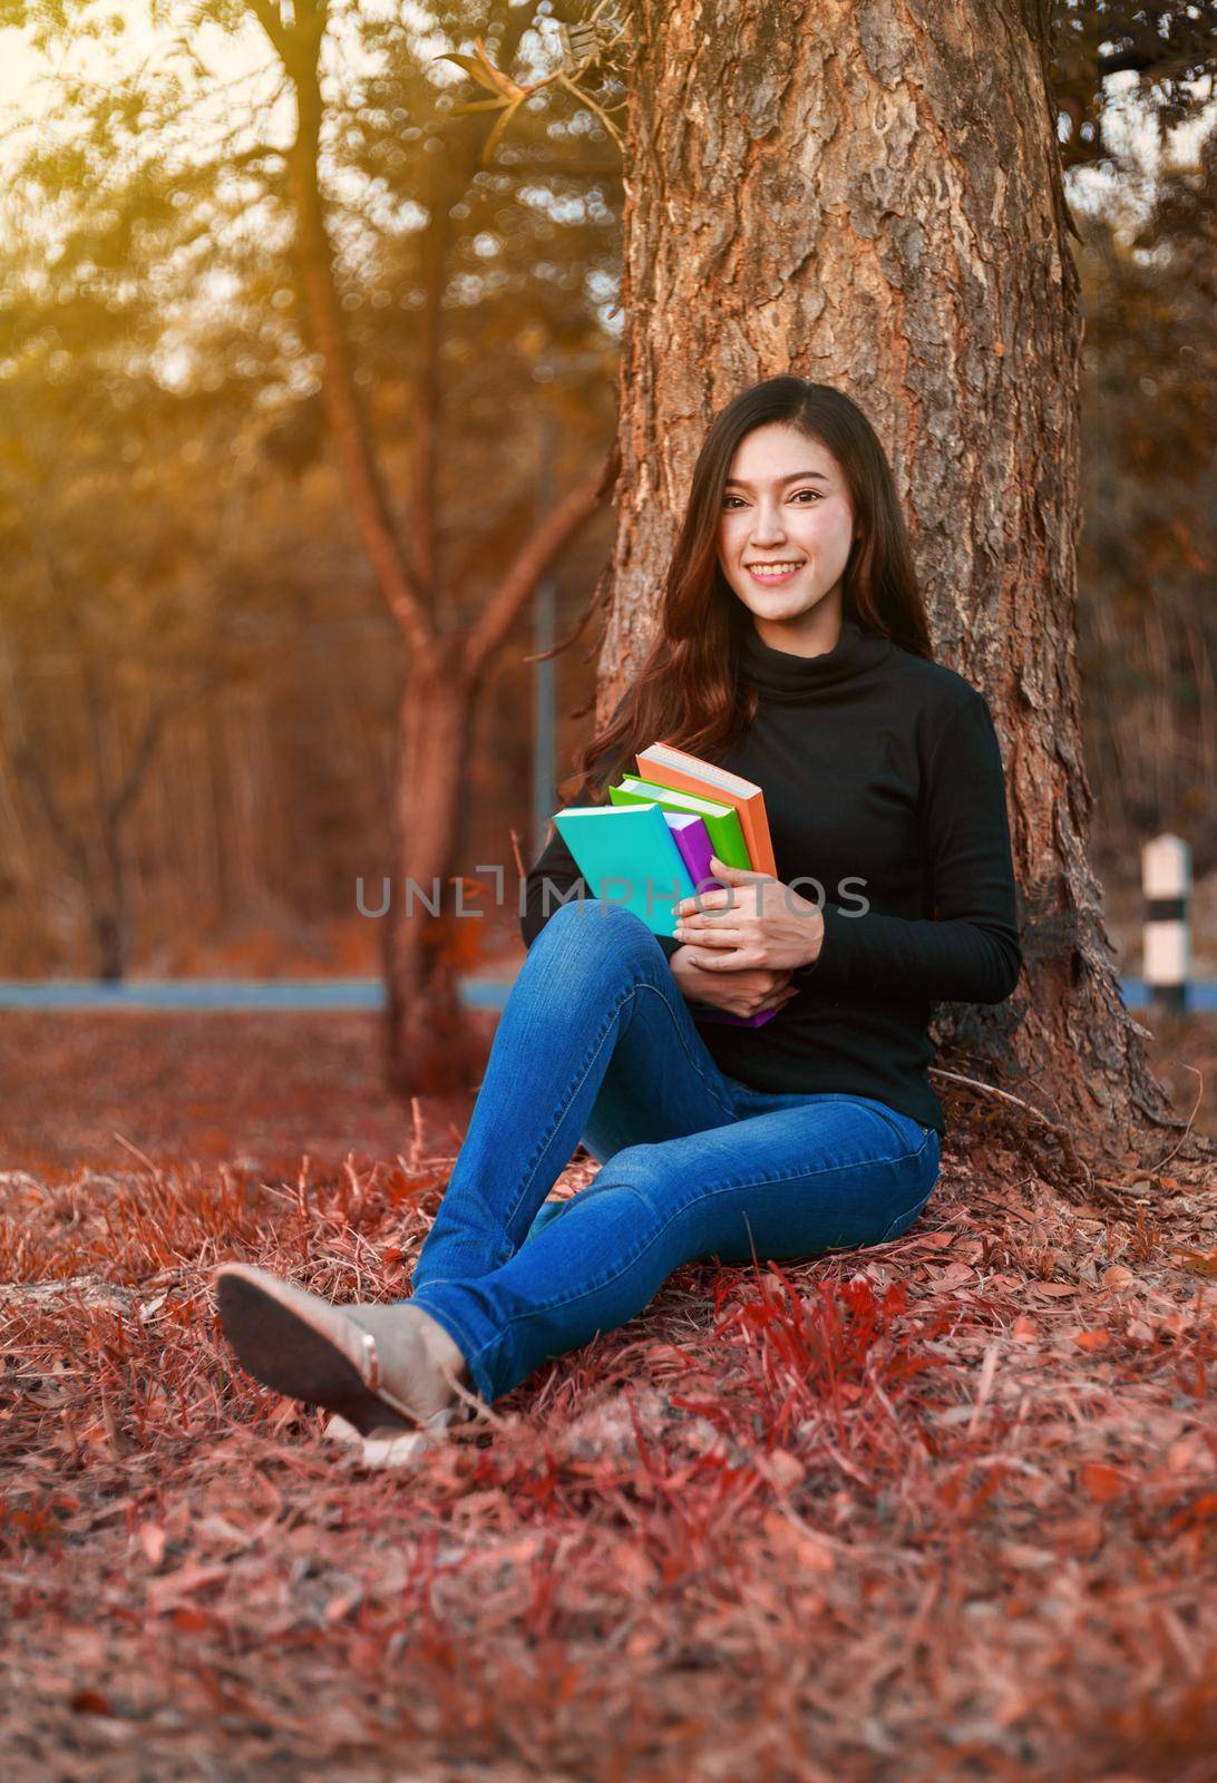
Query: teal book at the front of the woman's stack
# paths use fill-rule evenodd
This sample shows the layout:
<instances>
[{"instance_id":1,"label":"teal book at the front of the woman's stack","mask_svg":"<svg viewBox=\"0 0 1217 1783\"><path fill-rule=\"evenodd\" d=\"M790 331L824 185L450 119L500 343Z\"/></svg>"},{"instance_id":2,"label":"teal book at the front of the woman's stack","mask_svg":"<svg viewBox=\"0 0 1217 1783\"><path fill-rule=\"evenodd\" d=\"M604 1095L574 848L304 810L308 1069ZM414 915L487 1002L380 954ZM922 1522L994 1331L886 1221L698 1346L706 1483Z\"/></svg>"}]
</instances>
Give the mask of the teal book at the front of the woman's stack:
<instances>
[{"instance_id":1,"label":"teal book at the front of the woman's stack","mask_svg":"<svg viewBox=\"0 0 1217 1783\"><path fill-rule=\"evenodd\" d=\"M673 906L696 886L660 804L573 804L553 824L591 897L632 909L651 934L676 933Z\"/></svg>"}]
</instances>

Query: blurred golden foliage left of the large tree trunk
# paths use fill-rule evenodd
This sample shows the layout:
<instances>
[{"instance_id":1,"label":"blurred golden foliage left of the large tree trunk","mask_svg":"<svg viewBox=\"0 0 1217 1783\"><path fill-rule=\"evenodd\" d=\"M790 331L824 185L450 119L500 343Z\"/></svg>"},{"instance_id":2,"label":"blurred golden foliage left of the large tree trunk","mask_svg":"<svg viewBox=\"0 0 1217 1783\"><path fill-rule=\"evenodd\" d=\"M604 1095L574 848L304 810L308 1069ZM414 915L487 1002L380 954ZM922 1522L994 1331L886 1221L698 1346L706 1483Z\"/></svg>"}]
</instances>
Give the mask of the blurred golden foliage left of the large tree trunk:
<instances>
[{"instance_id":1,"label":"blurred golden foliage left of the large tree trunk","mask_svg":"<svg viewBox=\"0 0 1217 1783\"><path fill-rule=\"evenodd\" d=\"M45 30L52 11L64 30L100 16L45 7ZM9 972L93 965L82 920L98 847L86 868L45 833L12 774L23 738L64 827L96 838L98 726L127 763L152 706L202 665L219 665L223 686L164 726L127 843L145 945L171 945L191 913L211 924L250 908L348 911L357 874L387 868L400 645L327 451L282 78L248 7L159 12L187 25L182 43L121 62L118 77L61 71L4 201ZM519 43L525 20L510 12L498 9L500 36ZM416 414L435 401L423 496L437 521L435 599L455 624L480 612L542 501L612 437L619 157L546 94L496 168L478 171L480 121L448 116L460 82L432 68L435 34L355 5L330 16L323 157L355 380L407 526ZM485 16L450 7L437 21L459 45ZM557 462L542 467L551 440ZM603 547L592 537L571 551L559 635ZM84 717L84 629L102 645L96 724ZM471 838L469 858L507 865L494 813L526 783L528 744L498 706L526 697L528 670L500 681L471 788L473 827L494 824L493 840Z\"/></svg>"}]
</instances>

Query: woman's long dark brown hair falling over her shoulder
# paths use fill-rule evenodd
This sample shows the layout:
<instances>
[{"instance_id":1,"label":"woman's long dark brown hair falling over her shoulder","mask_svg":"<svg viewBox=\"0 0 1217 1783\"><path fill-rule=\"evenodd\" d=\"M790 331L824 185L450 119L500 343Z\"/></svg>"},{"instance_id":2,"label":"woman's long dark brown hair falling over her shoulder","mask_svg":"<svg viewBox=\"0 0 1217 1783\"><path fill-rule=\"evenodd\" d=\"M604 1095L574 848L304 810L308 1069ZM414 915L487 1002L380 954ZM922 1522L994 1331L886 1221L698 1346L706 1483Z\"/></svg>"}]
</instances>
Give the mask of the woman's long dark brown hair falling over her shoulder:
<instances>
[{"instance_id":1,"label":"woman's long dark brown hair falling over her shoulder","mask_svg":"<svg viewBox=\"0 0 1217 1783\"><path fill-rule=\"evenodd\" d=\"M719 565L724 483L741 440L782 421L824 446L846 478L855 538L842 579L842 615L933 661L896 483L874 428L830 383L792 374L741 390L707 431L673 547L660 622L642 667L608 722L559 786L564 804L603 804L617 770L653 742L714 761L757 713L757 690L739 670L751 613Z\"/></svg>"}]
</instances>

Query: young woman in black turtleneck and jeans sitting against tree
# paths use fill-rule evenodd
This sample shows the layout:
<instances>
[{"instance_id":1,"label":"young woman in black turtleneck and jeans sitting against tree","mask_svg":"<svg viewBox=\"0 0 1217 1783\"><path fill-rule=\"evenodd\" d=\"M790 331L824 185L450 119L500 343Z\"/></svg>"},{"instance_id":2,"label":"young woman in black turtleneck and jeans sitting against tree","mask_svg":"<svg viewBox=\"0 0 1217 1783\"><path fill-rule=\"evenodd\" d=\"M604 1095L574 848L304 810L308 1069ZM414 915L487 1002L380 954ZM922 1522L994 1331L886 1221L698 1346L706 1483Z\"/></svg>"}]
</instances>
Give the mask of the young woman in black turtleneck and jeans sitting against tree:
<instances>
[{"instance_id":1,"label":"young woman in black turtleneck and jeans sitting against tree","mask_svg":"<svg viewBox=\"0 0 1217 1783\"><path fill-rule=\"evenodd\" d=\"M218 1271L225 1330L277 1391L364 1434L439 1428L682 1262L882 1245L926 1205L930 1006L1001 1002L1022 966L1005 779L983 695L931 658L890 467L840 390L769 378L716 417L658 635L564 802L603 801L655 740L764 788L778 877L716 859L726 890L657 938L562 902L587 888L551 834L412 1296L334 1307ZM580 1141L598 1175L542 1205Z\"/></svg>"}]
</instances>

